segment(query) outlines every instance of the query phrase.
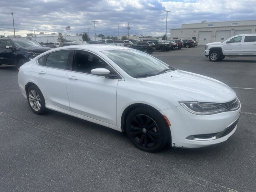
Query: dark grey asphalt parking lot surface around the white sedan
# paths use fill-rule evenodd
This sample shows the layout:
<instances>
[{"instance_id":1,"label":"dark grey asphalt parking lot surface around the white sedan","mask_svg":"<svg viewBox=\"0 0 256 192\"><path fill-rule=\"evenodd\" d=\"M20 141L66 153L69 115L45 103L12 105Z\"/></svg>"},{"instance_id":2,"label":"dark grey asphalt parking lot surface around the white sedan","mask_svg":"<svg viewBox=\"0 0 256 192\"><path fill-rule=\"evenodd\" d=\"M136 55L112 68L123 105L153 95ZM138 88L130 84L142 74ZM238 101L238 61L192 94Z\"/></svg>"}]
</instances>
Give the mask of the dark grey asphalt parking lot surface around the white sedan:
<instances>
[{"instance_id":1,"label":"dark grey asphalt parking lot surface around the white sedan","mask_svg":"<svg viewBox=\"0 0 256 192\"><path fill-rule=\"evenodd\" d=\"M16 68L0 66L0 191L256 191L256 60L210 62L203 51L197 46L152 56L232 87L242 104L238 128L218 145L158 153L85 120L34 114Z\"/></svg>"}]
</instances>

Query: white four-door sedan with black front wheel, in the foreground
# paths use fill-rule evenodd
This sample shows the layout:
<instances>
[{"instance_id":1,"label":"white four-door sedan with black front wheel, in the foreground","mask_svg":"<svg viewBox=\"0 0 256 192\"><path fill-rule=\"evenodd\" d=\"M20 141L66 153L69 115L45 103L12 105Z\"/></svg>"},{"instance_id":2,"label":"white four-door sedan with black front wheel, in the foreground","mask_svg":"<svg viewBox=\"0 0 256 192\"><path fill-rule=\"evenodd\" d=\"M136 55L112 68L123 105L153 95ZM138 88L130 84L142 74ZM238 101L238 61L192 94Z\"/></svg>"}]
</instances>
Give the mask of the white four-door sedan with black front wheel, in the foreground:
<instances>
[{"instance_id":1,"label":"white four-door sedan with black front wheel, in the foreground","mask_svg":"<svg viewBox=\"0 0 256 192\"><path fill-rule=\"evenodd\" d=\"M20 67L18 84L34 113L47 108L126 132L148 152L224 142L241 112L226 84L121 46L49 50Z\"/></svg>"}]
</instances>

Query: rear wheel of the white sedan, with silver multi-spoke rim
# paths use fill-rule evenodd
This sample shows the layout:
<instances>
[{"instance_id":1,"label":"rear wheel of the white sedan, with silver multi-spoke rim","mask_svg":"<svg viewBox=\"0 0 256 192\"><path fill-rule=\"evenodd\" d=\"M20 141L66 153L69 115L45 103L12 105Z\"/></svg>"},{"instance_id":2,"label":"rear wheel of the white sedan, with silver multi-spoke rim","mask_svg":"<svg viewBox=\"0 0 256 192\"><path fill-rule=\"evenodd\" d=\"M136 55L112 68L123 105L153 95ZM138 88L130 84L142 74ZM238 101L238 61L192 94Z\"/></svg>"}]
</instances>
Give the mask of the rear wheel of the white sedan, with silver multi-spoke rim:
<instances>
[{"instance_id":1,"label":"rear wheel of the white sedan, with silver multi-spoke rim","mask_svg":"<svg viewBox=\"0 0 256 192\"><path fill-rule=\"evenodd\" d=\"M35 99L32 98L32 97L34 97L34 95L33 95L34 91L39 95L39 98L37 98L36 101L35 101ZM40 91L40 89L37 86L32 85L28 88L27 100L28 100L28 105L30 106L31 110L35 114L42 115L46 112L44 96L43 96L42 92ZM33 102L35 103L36 106L39 106L38 103L40 104L40 108L38 107L39 110L37 110L36 108L33 108L33 105L32 105Z\"/></svg>"}]
</instances>

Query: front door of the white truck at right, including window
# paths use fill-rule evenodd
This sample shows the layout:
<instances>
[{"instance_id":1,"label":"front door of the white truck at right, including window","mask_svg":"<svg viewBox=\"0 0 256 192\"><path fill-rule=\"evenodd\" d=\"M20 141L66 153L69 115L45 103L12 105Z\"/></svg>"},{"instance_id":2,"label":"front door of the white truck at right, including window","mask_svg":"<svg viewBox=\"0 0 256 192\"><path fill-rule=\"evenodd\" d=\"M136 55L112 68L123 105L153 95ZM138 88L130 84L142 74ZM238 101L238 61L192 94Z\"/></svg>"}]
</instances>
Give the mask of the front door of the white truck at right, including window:
<instances>
[{"instance_id":1,"label":"front door of the white truck at right, including window","mask_svg":"<svg viewBox=\"0 0 256 192\"><path fill-rule=\"evenodd\" d=\"M236 36L224 43L225 55L238 55L241 54L243 36Z\"/></svg>"}]
</instances>

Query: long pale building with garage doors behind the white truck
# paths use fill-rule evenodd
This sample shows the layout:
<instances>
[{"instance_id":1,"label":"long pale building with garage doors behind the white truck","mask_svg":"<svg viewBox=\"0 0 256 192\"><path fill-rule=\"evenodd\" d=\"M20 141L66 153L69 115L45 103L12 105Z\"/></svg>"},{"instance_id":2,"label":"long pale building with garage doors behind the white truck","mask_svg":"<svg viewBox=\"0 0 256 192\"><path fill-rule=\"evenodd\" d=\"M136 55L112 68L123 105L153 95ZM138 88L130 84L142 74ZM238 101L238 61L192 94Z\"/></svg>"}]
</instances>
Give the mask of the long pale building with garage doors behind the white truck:
<instances>
[{"instance_id":1,"label":"long pale building with garage doors behind the white truck","mask_svg":"<svg viewBox=\"0 0 256 192\"><path fill-rule=\"evenodd\" d=\"M256 33L256 20L182 24L171 30L171 38L193 38L199 45L222 42L234 35Z\"/></svg>"}]
</instances>

